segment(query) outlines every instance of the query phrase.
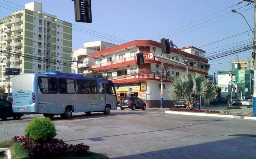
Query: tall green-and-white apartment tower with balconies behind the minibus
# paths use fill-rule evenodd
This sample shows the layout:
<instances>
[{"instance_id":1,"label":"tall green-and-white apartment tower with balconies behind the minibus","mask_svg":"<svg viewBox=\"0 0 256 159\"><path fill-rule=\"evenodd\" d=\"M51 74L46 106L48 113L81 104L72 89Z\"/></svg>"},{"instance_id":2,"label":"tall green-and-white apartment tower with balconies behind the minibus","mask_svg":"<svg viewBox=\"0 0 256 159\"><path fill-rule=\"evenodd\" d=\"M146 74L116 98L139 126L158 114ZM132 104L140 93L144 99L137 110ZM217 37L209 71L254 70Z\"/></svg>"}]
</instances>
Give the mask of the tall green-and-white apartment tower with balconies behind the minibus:
<instances>
[{"instance_id":1,"label":"tall green-and-white apartment tower with balconies behind the minibus","mask_svg":"<svg viewBox=\"0 0 256 159\"><path fill-rule=\"evenodd\" d=\"M8 67L20 73L71 72L72 24L42 12L41 3L3 17L0 30L1 86Z\"/></svg>"}]
</instances>

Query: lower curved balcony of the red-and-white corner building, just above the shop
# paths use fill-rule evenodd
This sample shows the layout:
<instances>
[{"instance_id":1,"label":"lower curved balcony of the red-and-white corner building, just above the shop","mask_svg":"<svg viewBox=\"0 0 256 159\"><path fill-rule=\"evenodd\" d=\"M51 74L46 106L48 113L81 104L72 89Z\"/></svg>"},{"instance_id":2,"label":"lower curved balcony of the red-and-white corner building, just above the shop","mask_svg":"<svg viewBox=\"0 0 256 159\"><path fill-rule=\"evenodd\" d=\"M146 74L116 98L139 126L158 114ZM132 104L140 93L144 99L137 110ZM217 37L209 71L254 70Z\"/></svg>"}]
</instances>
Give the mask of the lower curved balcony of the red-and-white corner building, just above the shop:
<instances>
[{"instance_id":1,"label":"lower curved balcony of the red-and-white corner building, just above the shop","mask_svg":"<svg viewBox=\"0 0 256 159\"><path fill-rule=\"evenodd\" d=\"M159 81L161 77L156 73L135 73L130 75L121 75L121 76L113 76L109 78L110 80L113 80L114 82L121 82L120 80L123 80L125 82L134 82L135 80L157 80ZM164 81L172 81L173 77L164 76Z\"/></svg>"}]
</instances>

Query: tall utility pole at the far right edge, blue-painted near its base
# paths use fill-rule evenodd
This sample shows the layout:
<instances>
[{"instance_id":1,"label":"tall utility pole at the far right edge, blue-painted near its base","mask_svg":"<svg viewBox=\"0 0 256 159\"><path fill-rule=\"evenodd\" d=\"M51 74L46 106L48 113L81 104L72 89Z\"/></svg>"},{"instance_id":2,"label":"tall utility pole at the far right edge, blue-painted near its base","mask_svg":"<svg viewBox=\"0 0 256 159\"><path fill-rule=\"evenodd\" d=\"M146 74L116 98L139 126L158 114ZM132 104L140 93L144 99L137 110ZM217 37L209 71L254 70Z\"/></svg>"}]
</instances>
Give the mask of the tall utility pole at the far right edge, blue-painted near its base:
<instances>
[{"instance_id":1,"label":"tall utility pole at the far right edge, blue-painted near its base","mask_svg":"<svg viewBox=\"0 0 256 159\"><path fill-rule=\"evenodd\" d=\"M256 48L255 48L255 34L256 34L256 0L254 0L254 39L253 39L253 51L256 52ZM253 109L252 109L252 115L256 116L256 60L253 59Z\"/></svg>"}]
</instances>

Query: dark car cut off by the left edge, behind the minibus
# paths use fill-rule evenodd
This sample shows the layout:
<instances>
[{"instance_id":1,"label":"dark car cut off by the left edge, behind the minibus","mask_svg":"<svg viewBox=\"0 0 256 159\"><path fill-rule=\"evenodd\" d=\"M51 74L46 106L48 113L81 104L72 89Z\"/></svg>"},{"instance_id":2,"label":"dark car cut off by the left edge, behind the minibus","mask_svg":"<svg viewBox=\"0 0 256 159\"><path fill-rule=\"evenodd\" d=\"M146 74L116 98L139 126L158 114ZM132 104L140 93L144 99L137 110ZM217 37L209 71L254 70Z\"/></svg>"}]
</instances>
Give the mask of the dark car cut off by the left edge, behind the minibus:
<instances>
[{"instance_id":1,"label":"dark car cut off by the left edge, behind the minibus","mask_svg":"<svg viewBox=\"0 0 256 159\"><path fill-rule=\"evenodd\" d=\"M23 114L14 113L12 111L12 103L0 99L0 118L5 120L7 118L20 119Z\"/></svg>"}]
</instances>

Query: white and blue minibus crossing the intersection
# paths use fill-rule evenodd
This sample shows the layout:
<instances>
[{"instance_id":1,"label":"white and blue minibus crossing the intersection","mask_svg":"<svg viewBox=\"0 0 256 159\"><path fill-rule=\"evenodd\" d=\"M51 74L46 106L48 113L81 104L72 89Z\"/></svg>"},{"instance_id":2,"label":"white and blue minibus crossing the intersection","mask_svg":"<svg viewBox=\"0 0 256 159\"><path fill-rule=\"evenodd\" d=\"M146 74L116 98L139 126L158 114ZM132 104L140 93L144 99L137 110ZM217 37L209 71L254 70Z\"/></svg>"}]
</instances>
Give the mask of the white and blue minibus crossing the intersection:
<instances>
[{"instance_id":1,"label":"white and blue minibus crossing the intersection","mask_svg":"<svg viewBox=\"0 0 256 159\"><path fill-rule=\"evenodd\" d=\"M12 110L22 114L44 114L71 118L73 112L103 112L117 109L111 80L75 73L48 71L24 73L12 81Z\"/></svg>"}]
</instances>

